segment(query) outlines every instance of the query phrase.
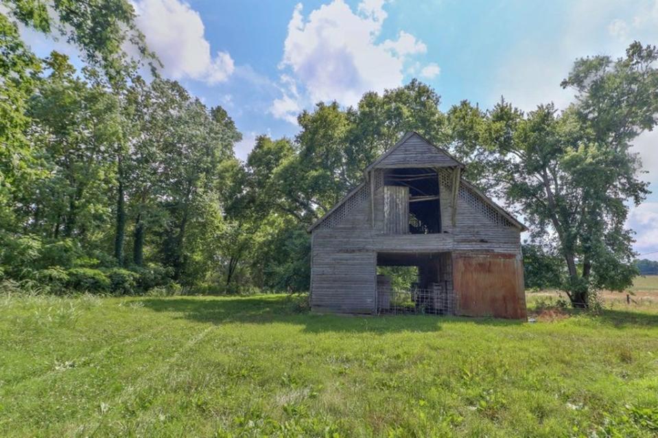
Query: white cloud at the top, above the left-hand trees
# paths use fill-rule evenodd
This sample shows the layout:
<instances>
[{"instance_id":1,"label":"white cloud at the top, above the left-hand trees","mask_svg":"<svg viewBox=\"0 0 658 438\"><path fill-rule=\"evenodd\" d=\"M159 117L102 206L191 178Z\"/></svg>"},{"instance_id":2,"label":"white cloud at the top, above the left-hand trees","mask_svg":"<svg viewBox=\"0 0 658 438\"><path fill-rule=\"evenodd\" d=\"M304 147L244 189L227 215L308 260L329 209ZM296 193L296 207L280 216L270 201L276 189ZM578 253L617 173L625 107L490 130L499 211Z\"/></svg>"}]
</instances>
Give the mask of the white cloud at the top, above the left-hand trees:
<instances>
[{"instance_id":1,"label":"white cloud at the top, above the left-hand trees","mask_svg":"<svg viewBox=\"0 0 658 438\"><path fill-rule=\"evenodd\" d=\"M133 6L137 26L145 34L148 47L163 62L166 76L208 84L224 82L231 76L235 69L231 55L226 51L211 55L201 16L188 3L136 0Z\"/></svg>"}]
</instances>

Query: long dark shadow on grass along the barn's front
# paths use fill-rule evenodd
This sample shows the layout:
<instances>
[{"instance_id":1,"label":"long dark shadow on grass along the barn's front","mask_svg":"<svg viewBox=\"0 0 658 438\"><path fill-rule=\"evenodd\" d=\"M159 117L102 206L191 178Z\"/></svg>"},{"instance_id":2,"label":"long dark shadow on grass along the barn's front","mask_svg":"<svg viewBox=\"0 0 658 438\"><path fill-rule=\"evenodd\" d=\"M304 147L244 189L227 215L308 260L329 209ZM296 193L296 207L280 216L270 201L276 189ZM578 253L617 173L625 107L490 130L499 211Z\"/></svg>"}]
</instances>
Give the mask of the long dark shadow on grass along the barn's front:
<instances>
[{"instance_id":1,"label":"long dark shadow on grass along the barn's front","mask_svg":"<svg viewBox=\"0 0 658 438\"><path fill-rule=\"evenodd\" d=\"M286 323L303 325L309 333L360 332L438 332L441 325L456 321L478 324L518 325L521 321L505 319L473 319L454 316L399 315L348 316L313 314L301 310L293 297L258 295L253 297L146 298L145 308L170 312L178 317L203 323Z\"/></svg>"}]
</instances>

